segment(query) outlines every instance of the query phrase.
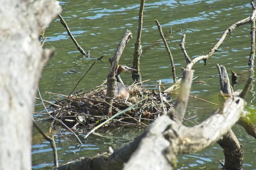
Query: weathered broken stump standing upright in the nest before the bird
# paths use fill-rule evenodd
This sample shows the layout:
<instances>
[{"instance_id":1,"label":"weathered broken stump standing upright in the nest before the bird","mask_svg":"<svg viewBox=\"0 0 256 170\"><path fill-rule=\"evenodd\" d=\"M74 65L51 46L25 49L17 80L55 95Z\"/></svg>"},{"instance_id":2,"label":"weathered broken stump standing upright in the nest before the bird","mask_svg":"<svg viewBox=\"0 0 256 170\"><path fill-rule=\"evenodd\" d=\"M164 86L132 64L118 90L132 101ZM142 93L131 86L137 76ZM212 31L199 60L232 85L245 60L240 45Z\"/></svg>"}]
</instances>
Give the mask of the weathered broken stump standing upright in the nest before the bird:
<instances>
[{"instance_id":1,"label":"weathered broken stump standing upright in the nest before the bird","mask_svg":"<svg viewBox=\"0 0 256 170\"><path fill-rule=\"evenodd\" d=\"M115 89L116 89L116 68L119 62L119 59L122 55L122 52L125 49L125 45L129 42L129 40L132 38L132 34L130 30L127 30L124 37L122 38L121 42L119 43L118 48L116 49L115 55L110 59L111 62L111 69L108 74L108 82L107 82L107 98L106 102L108 102L110 105L112 105L113 97L115 96ZM105 104L105 114L106 115L112 115L112 107Z\"/></svg>"}]
</instances>

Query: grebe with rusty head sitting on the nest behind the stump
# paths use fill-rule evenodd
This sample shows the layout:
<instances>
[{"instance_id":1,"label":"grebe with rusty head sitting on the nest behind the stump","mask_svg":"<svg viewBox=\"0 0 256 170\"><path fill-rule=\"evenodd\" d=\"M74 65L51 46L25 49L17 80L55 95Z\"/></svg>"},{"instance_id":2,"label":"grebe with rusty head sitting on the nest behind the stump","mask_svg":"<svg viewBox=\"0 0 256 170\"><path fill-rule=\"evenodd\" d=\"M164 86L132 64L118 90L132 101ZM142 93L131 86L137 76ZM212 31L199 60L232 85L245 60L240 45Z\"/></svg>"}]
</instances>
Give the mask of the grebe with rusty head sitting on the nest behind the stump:
<instances>
[{"instance_id":1,"label":"grebe with rusty head sitting on the nest behind the stump","mask_svg":"<svg viewBox=\"0 0 256 170\"><path fill-rule=\"evenodd\" d=\"M130 94L125 87L124 83L122 82L122 79L120 77L120 74L123 71L137 71L136 69L127 67L126 65L119 65L116 71L116 90L115 90L115 97L117 99L125 99L125 101L129 98ZM100 92L101 95L106 96L107 94L107 89L104 89Z\"/></svg>"}]
</instances>

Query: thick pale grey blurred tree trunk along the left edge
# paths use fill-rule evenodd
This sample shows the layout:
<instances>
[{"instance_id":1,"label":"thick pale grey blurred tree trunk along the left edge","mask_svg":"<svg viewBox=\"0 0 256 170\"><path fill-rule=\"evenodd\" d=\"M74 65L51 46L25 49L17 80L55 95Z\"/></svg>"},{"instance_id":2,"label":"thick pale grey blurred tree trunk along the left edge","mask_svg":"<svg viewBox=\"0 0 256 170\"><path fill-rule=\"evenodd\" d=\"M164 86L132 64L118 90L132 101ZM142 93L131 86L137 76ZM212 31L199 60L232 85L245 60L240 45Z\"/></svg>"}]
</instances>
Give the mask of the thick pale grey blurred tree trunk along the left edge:
<instances>
[{"instance_id":1,"label":"thick pale grey blurred tree trunk along the left edge","mask_svg":"<svg viewBox=\"0 0 256 170\"><path fill-rule=\"evenodd\" d=\"M0 169L30 170L34 97L53 54L38 37L61 7L53 0L1 0L0 11Z\"/></svg>"}]
</instances>

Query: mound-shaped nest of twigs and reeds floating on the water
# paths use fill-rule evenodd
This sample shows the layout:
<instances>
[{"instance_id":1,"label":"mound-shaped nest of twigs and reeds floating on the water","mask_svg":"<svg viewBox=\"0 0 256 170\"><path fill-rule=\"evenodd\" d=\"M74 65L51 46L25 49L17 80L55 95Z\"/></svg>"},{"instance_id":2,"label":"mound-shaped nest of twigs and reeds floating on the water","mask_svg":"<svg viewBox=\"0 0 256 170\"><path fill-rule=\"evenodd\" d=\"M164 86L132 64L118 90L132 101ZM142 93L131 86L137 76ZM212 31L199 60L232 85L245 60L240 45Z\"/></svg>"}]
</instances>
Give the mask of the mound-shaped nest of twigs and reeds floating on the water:
<instances>
[{"instance_id":1,"label":"mound-shaped nest of twigs and reeds floating on the water","mask_svg":"<svg viewBox=\"0 0 256 170\"><path fill-rule=\"evenodd\" d=\"M104 114L106 97L100 95L101 90L102 89L100 88L95 88L85 93L75 93L75 95L70 96L68 99L66 96L66 99L60 102L55 102L55 105L49 107L52 108L52 116L58 114L58 119L61 119L72 129L91 129L95 125L98 125L111 117ZM128 91L130 97L127 101L113 99L113 115L142 100L143 102L136 104L133 108L118 116L116 119L113 119L113 121L105 126L123 123L146 125L148 122L154 121L154 119L172 108L172 98L169 95L155 92L154 90L149 91L148 89L141 88L137 85L128 87ZM64 107L61 113L59 113L62 105L64 105Z\"/></svg>"}]
</instances>

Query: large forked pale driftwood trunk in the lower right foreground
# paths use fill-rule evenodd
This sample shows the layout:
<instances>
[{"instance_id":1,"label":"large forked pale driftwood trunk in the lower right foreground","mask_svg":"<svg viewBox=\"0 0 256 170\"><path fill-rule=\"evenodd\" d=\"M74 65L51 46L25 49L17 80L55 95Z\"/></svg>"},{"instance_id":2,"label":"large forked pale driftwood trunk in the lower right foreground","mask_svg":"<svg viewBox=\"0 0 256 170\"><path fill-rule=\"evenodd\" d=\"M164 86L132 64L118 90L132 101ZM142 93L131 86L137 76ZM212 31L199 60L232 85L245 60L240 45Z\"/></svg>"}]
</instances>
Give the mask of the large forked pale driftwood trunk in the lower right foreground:
<instances>
[{"instance_id":1,"label":"large forked pale driftwood trunk in the lower right foreground","mask_svg":"<svg viewBox=\"0 0 256 170\"><path fill-rule=\"evenodd\" d=\"M58 169L120 170L123 168L124 170L172 170L175 167L178 153L198 152L217 142L222 136L224 136L222 140L226 139L225 136L230 137L227 139L227 144L231 146L229 147L230 150L239 150L241 153L237 157L237 159L241 160L236 163L237 165L233 162L234 160L229 159L229 163L233 163L237 167L233 168L225 165L225 168L227 170L240 168L243 151L230 129L240 117L246 116L247 112L244 111L245 102L244 98L239 96L241 91L233 93L226 69L223 66L218 66L218 69L221 82L220 98L223 104L218 111L201 124L194 127L182 125L193 76L192 70L184 69L181 84L183 87L181 89L183 90L180 91L175 107L160 116L133 142L116 151L113 151L110 147L105 153L81 158L64 164ZM231 141L231 139L235 142ZM225 153L227 153L227 150L225 150ZM229 155L225 154L225 156Z\"/></svg>"}]
</instances>

